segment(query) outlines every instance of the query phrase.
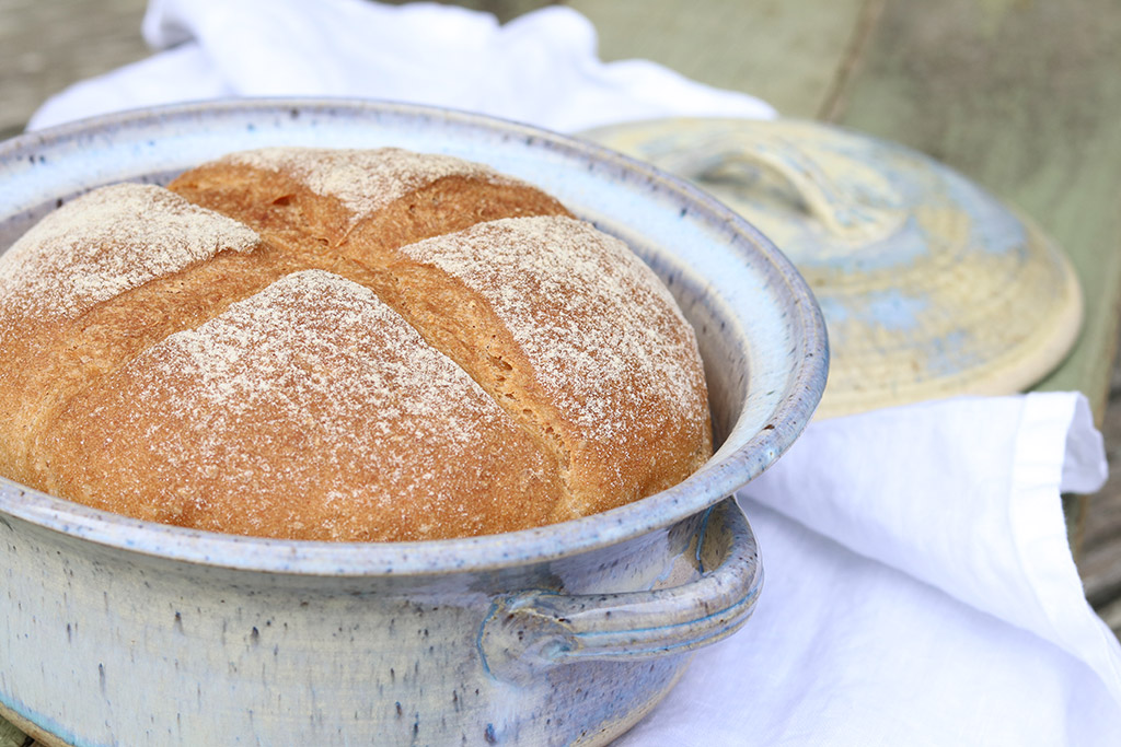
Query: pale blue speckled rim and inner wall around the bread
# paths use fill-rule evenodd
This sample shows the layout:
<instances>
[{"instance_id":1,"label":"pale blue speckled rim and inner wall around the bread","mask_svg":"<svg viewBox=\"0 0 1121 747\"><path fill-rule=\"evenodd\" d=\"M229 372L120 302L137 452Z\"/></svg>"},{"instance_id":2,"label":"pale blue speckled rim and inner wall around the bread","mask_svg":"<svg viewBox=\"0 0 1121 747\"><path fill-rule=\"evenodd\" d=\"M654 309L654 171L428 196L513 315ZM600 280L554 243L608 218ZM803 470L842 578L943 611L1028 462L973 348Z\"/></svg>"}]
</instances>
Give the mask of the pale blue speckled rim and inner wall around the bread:
<instances>
[{"instance_id":1,"label":"pale blue speckled rim and inner wall around the bread","mask_svg":"<svg viewBox=\"0 0 1121 747\"><path fill-rule=\"evenodd\" d=\"M473 114L337 100L179 105L85 120L0 144L0 250L71 197L115 181L166 183L207 159L267 146L395 146L488 164L553 194L628 243L697 333L713 458L670 489L603 514L508 534L419 543L295 542L212 534L86 508L0 482L0 517L131 550L296 573L418 573L546 560L667 526L733 493L802 432L825 385L827 345L805 282L750 224L684 181L580 140Z\"/></svg>"}]
</instances>

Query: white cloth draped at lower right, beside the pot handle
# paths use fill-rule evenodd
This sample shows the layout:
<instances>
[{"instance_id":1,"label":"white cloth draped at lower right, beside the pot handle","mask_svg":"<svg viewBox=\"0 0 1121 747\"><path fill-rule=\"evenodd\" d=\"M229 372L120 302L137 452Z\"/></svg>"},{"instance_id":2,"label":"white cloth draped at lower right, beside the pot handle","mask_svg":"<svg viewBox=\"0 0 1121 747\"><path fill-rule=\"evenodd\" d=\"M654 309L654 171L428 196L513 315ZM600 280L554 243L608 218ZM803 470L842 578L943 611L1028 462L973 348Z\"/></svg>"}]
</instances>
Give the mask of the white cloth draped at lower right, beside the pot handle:
<instances>
[{"instance_id":1,"label":"white cloth draped at lower right, beside the pot handle","mask_svg":"<svg viewBox=\"0 0 1121 747\"><path fill-rule=\"evenodd\" d=\"M1118 744L1121 648L1059 505L1104 477L1080 394L810 424L738 496L754 616L619 744Z\"/></svg>"}]
</instances>

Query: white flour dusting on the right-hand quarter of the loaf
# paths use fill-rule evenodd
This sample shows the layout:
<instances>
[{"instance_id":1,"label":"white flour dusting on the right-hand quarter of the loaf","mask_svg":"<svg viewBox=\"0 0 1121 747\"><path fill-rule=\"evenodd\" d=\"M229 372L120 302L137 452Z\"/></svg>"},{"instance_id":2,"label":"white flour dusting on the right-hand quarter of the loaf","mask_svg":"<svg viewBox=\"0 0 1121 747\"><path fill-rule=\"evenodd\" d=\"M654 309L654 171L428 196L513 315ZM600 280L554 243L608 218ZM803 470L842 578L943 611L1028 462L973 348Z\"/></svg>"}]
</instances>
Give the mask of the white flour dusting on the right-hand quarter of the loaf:
<instances>
[{"instance_id":1,"label":"white flour dusting on the right-hand quarter of the loaf","mask_svg":"<svg viewBox=\"0 0 1121 747\"><path fill-rule=\"evenodd\" d=\"M669 292L626 244L593 226L504 218L401 252L483 296L534 362L538 383L596 439L633 427L620 400L648 396L673 408L674 419L703 407L700 371L688 365L695 343L683 335L689 328Z\"/></svg>"}]
</instances>

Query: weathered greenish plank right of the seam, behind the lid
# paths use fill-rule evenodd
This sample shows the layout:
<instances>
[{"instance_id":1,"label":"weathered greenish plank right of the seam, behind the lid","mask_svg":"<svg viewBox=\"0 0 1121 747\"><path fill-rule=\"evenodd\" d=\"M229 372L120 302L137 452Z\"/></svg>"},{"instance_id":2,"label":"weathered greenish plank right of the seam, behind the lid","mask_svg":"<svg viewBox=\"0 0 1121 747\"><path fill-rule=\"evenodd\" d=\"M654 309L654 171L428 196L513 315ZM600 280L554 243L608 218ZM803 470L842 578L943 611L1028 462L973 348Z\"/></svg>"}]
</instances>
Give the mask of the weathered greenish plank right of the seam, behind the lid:
<instances>
[{"instance_id":1,"label":"weathered greenish plank right of the seam, behind the lid","mask_svg":"<svg viewBox=\"0 0 1121 747\"><path fill-rule=\"evenodd\" d=\"M1086 321L1040 389L1109 394L1121 298L1121 13L1113 0L891 0L839 121L955 167L1071 255Z\"/></svg>"}]
</instances>

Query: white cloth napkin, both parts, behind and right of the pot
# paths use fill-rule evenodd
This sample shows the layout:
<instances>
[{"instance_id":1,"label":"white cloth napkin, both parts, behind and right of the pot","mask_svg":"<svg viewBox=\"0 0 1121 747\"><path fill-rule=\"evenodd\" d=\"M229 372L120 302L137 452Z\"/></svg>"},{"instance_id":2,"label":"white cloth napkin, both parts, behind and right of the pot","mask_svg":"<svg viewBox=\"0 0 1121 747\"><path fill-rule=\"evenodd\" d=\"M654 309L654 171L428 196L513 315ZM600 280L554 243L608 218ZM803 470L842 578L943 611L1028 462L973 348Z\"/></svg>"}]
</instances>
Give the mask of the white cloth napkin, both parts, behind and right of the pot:
<instances>
[{"instance_id":1,"label":"white cloth napkin, both parts, behind and right of the pot","mask_svg":"<svg viewBox=\"0 0 1121 747\"><path fill-rule=\"evenodd\" d=\"M33 127L285 94L560 131L775 114L651 63L601 63L594 29L565 8L499 26L426 3L154 0L143 30L163 52L64 92ZM1121 647L1085 601L1059 501L1099 489L1105 469L1076 393L810 424L740 496L767 578L754 617L620 744L1118 744Z\"/></svg>"}]
</instances>

